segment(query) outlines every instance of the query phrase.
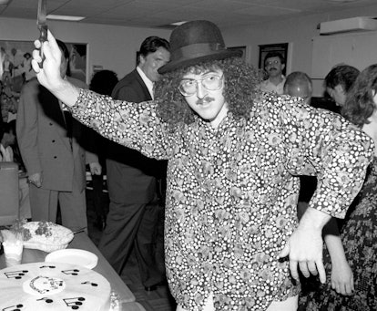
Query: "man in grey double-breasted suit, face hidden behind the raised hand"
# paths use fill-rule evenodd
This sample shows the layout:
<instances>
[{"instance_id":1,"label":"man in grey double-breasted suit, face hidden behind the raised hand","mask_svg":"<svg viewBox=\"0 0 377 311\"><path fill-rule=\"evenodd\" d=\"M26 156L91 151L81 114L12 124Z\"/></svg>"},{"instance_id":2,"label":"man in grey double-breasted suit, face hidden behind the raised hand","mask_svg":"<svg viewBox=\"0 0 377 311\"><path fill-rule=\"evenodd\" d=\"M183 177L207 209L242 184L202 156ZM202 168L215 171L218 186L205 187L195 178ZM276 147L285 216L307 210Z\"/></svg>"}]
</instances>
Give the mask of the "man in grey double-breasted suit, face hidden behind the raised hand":
<instances>
[{"instance_id":1,"label":"man in grey double-breasted suit, face hidden behind the raised hand","mask_svg":"<svg viewBox=\"0 0 377 311\"><path fill-rule=\"evenodd\" d=\"M60 74L79 88L87 85L69 78L69 53L62 51ZM60 206L62 224L76 231L87 227L86 163L92 173L101 167L97 156L80 145L83 125L65 114L59 100L42 87L36 78L21 91L16 119L16 134L30 185L33 221L56 223Z\"/></svg>"}]
</instances>

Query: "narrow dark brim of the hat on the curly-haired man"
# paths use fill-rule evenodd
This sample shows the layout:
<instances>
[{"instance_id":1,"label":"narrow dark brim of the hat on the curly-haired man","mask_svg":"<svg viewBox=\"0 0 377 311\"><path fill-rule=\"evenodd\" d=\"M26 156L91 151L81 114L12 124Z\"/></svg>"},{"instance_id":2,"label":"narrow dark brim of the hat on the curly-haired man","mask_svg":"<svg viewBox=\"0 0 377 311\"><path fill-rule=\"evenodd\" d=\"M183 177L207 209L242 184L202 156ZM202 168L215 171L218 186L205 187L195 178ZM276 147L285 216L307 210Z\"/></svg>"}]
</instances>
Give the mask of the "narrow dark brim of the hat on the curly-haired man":
<instances>
[{"instance_id":1,"label":"narrow dark brim of the hat on the curly-haired man","mask_svg":"<svg viewBox=\"0 0 377 311\"><path fill-rule=\"evenodd\" d=\"M197 65L199 63L207 62L209 60L220 60L220 59L225 59L229 57L241 57L241 56L242 56L241 50L225 49L221 51L214 51L211 54L207 54L201 57L180 58L178 60L172 60L168 62L167 65L164 65L158 68L158 73L165 74L169 71L173 71L181 67Z\"/></svg>"}]
</instances>

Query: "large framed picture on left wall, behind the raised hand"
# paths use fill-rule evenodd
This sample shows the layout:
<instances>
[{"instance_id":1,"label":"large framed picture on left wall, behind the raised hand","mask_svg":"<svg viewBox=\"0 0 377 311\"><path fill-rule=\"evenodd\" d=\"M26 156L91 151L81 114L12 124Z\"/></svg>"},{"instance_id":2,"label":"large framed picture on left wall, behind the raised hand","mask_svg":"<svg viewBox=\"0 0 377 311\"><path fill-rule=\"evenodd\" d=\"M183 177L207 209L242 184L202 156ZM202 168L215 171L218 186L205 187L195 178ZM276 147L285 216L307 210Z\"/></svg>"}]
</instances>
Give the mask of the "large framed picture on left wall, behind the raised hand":
<instances>
[{"instance_id":1,"label":"large framed picture on left wall, behind the raised hand","mask_svg":"<svg viewBox=\"0 0 377 311\"><path fill-rule=\"evenodd\" d=\"M66 43L69 51L71 76L86 82L87 44ZM0 81L2 88L15 97L26 81L36 77L31 67L32 41L0 40Z\"/></svg>"}]
</instances>

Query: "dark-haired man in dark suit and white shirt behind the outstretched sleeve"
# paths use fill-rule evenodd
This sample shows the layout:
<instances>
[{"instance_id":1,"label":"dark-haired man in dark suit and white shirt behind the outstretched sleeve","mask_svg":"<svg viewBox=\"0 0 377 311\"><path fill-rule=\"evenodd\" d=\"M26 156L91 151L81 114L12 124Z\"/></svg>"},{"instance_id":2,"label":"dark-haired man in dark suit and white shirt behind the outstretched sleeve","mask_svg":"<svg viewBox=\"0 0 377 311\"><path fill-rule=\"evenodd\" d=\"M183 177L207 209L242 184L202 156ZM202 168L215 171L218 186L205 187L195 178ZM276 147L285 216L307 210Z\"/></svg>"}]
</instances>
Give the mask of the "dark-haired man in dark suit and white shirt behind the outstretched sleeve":
<instances>
[{"instance_id":1,"label":"dark-haired man in dark suit and white shirt behind the outstretched sleeve","mask_svg":"<svg viewBox=\"0 0 377 311\"><path fill-rule=\"evenodd\" d=\"M117 83L112 97L136 103L152 100L153 83L159 78L158 68L167 64L169 57L167 40L158 36L146 38L138 52L138 67ZM165 271L158 269L156 259L158 254L163 254L163 249L156 249L156 236L161 214L159 190L163 188L158 180L164 170L165 161L148 159L117 143L108 148L110 204L107 227L98 247L120 274L134 246L146 290L156 289L165 280ZM160 258L163 261L162 255ZM163 263L159 264L163 267Z\"/></svg>"}]
</instances>

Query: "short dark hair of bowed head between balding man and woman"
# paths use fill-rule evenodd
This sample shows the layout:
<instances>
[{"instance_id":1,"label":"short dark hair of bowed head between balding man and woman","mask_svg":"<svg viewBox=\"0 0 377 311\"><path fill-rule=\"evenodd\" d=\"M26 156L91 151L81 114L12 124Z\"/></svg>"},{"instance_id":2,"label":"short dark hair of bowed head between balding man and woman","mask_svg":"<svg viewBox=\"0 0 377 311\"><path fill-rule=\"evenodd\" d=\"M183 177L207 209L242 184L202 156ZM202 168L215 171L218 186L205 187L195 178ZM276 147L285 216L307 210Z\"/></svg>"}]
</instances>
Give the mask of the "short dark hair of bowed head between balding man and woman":
<instances>
[{"instance_id":1,"label":"short dark hair of bowed head between balding man and woman","mask_svg":"<svg viewBox=\"0 0 377 311\"><path fill-rule=\"evenodd\" d=\"M324 86L325 88L335 88L341 85L344 92L347 93L359 73L359 69L350 65L337 65L332 67L331 71L325 77Z\"/></svg>"}]
</instances>

